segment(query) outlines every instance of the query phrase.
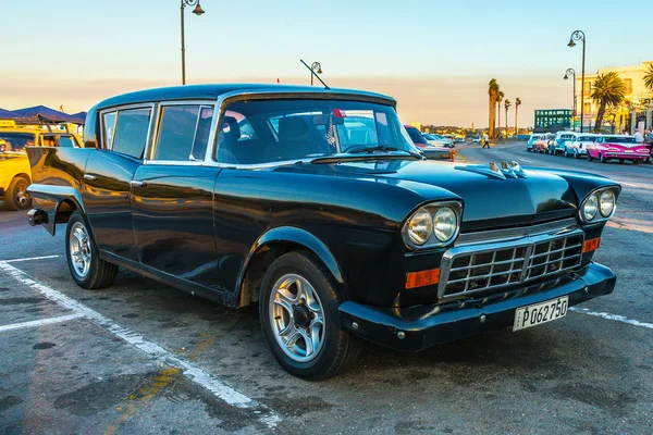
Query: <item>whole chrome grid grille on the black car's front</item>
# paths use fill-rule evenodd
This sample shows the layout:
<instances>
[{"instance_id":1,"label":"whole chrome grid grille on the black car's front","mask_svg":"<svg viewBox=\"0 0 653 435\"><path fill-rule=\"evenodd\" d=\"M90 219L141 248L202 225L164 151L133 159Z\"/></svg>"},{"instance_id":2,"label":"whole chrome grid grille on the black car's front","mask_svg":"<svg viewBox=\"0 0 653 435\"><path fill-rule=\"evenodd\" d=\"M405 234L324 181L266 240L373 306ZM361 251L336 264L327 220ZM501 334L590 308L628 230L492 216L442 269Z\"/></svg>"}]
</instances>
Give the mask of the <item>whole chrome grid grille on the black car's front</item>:
<instances>
[{"instance_id":1,"label":"whole chrome grid grille on the black car's front","mask_svg":"<svg viewBox=\"0 0 653 435\"><path fill-rule=\"evenodd\" d=\"M442 259L439 296L492 293L577 268L583 240L581 229L568 227L452 248Z\"/></svg>"}]
</instances>

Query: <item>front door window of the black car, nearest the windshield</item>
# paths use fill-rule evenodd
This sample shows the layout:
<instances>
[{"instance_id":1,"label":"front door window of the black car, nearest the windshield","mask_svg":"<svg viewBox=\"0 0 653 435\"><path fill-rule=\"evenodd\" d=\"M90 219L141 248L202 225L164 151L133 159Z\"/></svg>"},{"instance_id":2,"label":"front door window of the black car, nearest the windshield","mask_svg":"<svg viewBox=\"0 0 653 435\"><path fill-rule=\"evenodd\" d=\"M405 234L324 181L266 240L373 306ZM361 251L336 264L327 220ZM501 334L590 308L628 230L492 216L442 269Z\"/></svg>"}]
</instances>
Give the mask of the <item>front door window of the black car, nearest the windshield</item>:
<instances>
[{"instance_id":1,"label":"front door window of the black car, nearest the windshield","mask_svg":"<svg viewBox=\"0 0 653 435\"><path fill-rule=\"evenodd\" d=\"M153 159L204 161L212 117L213 108L209 105L163 107Z\"/></svg>"}]
</instances>

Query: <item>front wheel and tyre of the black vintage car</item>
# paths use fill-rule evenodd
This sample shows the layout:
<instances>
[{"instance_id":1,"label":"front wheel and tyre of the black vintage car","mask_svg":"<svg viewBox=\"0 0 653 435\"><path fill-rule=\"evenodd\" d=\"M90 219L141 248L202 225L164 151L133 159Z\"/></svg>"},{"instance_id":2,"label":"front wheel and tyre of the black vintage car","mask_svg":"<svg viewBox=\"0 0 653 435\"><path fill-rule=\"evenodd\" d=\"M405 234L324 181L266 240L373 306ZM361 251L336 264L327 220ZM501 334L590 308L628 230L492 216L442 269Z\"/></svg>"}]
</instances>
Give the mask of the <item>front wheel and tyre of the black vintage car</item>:
<instances>
[{"instance_id":1,"label":"front wheel and tyre of the black vintage car","mask_svg":"<svg viewBox=\"0 0 653 435\"><path fill-rule=\"evenodd\" d=\"M356 360L359 343L340 327L342 302L337 284L312 254L293 251L274 260L261 283L259 314L281 366L317 381Z\"/></svg>"}]
</instances>

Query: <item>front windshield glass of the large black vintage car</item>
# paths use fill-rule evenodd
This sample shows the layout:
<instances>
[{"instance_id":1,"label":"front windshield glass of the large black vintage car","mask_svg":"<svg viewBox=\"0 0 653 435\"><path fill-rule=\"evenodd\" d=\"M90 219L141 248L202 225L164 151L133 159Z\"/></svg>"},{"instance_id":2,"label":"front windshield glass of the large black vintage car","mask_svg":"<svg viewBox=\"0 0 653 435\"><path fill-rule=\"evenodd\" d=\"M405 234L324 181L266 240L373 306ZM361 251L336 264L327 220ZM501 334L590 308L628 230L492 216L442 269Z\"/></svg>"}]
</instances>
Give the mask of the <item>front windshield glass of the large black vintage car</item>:
<instances>
[{"instance_id":1,"label":"front windshield glass of the large black vintage car","mask_svg":"<svg viewBox=\"0 0 653 435\"><path fill-rule=\"evenodd\" d=\"M342 100L249 100L226 108L218 132L215 159L259 164L372 148L379 152L392 148L417 152L390 105Z\"/></svg>"}]
</instances>

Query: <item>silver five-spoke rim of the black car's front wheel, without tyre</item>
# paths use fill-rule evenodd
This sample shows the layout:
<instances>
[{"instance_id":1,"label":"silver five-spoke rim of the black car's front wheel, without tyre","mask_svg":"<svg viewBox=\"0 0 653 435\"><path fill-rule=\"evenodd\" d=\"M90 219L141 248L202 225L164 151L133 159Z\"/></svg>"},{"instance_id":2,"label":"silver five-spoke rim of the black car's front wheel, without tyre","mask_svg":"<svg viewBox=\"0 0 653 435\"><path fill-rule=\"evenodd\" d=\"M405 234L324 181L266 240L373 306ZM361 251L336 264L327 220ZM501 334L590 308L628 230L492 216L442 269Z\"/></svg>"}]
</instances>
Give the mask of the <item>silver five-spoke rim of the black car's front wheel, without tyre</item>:
<instances>
[{"instance_id":1,"label":"silver five-spoke rim of the black car's front wheel, without tyre","mask_svg":"<svg viewBox=\"0 0 653 435\"><path fill-rule=\"evenodd\" d=\"M308 281L296 274L279 278L269 312L274 338L285 355L297 362L318 356L324 340L324 311Z\"/></svg>"}]
</instances>

